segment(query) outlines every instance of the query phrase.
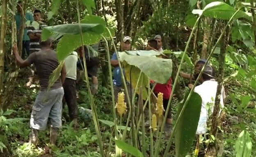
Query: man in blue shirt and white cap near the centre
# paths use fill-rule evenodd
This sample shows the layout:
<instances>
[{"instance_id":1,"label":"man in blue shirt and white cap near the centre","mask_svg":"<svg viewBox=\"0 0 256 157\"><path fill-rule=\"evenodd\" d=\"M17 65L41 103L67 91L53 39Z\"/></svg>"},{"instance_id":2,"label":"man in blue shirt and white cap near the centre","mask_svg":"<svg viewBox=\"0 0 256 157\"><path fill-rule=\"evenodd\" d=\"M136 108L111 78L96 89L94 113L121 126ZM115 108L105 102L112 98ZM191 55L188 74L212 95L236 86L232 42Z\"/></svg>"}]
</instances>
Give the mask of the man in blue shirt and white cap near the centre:
<instances>
[{"instance_id":1,"label":"man in blue shirt and white cap near the centre","mask_svg":"<svg viewBox=\"0 0 256 157\"><path fill-rule=\"evenodd\" d=\"M130 50L130 49L131 49L131 38L130 38L130 36L125 36L123 38L123 40L121 41L121 50L124 51L124 50ZM117 102L118 93L124 91L124 87L123 87L123 82L122 82L122 77L121 77L121 69L118 64L116 52L114 52L114 54L112 55L111 65L114 66L114 71L113 71L113 73L114 73L114 80L113 80L114 98L115 98L115 101ZM125 76L124 68L123 68L123 74ZM128 89L128 95L130 98L132 98L133 90L130 88L130 84L127 81L126 81L126 86ZM132 95L131 95L131 91L132 91ZM124 91L124 93L125 93L125 95L127 95L127 93L125 91ZM126 96L125 96L125 102L128 103Z\"/></svg>"}]
</instances>

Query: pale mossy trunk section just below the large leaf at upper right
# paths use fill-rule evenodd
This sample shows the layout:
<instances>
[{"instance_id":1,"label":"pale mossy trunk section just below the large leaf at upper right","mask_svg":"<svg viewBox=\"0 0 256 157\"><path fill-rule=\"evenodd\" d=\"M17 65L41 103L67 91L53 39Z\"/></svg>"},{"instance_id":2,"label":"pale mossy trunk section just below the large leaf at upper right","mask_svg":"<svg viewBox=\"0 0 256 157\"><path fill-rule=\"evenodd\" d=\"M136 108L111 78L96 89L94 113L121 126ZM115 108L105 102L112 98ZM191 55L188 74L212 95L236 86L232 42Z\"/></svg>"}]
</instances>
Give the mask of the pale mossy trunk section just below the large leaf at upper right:
<instances>
[{"instance_id":1,"label":"pale mossy trunk section just below the large leaf at upper right","mask_svg":"<svg viewBox=\"0 0 256 157\"><path fill-rule=\"evenodd\" d=\"M208 56L208 43L209 43L209 38L210 38L210 18L205 17L204 18L204 27L203 27L203 47L202 47L202 52L201 52L201 59L206 59Z\"/></svg>"}]
</instances>

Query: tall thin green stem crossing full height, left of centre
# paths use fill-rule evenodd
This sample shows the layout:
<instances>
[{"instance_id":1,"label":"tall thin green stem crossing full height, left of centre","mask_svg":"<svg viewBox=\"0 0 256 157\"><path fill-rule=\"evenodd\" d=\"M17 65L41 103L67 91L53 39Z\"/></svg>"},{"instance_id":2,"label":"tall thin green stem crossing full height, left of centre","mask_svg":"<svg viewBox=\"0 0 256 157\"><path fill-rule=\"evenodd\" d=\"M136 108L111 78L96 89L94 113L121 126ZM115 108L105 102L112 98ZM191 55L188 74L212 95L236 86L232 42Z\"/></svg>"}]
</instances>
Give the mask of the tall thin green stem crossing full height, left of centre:
<instances>
[{"instance_id":1,"label":"tall thin green stem crossing full height, left of centre","mask_svg":"<svg viewBox=\"0 0 256 157\"><path fill-rule=\"evenodd\" d=\"M78 11L78 23L79 23L80 37L81 37L81 44L82 44L82 53L83 53L83 56L85 56L85 49L84 49L84 46L83 46L83 39L82 39L82 28L81 28L81 25L80 25L81 21L80 21L80 11L79 11L78 0L76 0L76 7L77 7L77 11ZM83 57L83 61L84 61L84 67L86 67L85 57ZM90 89L90 85L89 85L87 68L85 68L85 79L86 79L86 82L87 82L87 88L88 88L89 98L90 98L90 102L91 102L92 117L93 117L93 122L94 122L95 130L96 130L96 135L97 135L97 138L98 138L98 144L99 144L99 147L100 147L101 156L105 157L105 153L104 153L104 150L103 150L103 141L101 139L100 125L98 123L98 115L97 115L97 111L96 111L94 101L93 101L93 98L92 98L92 95L91 95L91 89Z\"/></svg>"}]
</instances>

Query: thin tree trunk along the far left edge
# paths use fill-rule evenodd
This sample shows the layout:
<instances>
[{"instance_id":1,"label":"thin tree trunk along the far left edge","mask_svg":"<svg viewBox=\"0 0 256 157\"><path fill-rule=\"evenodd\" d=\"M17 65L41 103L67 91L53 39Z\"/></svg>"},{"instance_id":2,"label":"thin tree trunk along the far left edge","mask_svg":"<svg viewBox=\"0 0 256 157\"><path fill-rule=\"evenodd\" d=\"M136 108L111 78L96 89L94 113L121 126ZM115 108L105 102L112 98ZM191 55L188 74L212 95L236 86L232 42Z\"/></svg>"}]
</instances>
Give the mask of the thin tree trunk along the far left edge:
<instances>
[{"instance_id":1,"label":"thin tree trunk along the far left edge","mask_svg":"<svg viewBox=\"0 0 256 157\"><path fill-rule=\"evenodd\" d=\"M1 35L0 35L0 109L2 109L2 96L3 96L6 24L7 24L7 0L2 0L2 19L1 19Z\"/></svg>"}]
</instances>

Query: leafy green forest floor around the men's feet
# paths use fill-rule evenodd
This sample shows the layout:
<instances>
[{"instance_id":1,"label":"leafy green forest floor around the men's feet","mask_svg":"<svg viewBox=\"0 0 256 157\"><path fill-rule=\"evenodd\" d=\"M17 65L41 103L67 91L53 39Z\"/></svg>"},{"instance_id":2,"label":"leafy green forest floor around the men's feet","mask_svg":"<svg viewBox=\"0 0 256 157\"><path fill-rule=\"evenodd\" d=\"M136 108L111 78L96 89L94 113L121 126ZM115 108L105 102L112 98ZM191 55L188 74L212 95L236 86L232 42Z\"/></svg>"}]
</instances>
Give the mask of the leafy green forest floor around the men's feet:
<instances>
[{"instance_id":1,"label":"leafy green forest floor around the men's feet","mask_svg":"<svg viewBox=\"0 0 256 157\"><path fill-rule=\"evenodd\" d=\"M94 129L94 124L91 121L91 117L88 113L81 110L81 107L85 109L90 109L89 97L87 89L84 85L79 87L79 98L78 98L78 107L79 109L79 127L74 130L72 123L66 122L63 118L63 126L59 132L59 137L57 140L57 146L52 148L51 155L44 153L44 147L46 143L49 142L50 133L49 129L46 131L39 132L39 145L38 148L30 148L26 142L28 142L30 134L30 125L29 118L31 109L34 103L34 100L37 96L37 91L39 91L38 86L31 88L25 87L26 83L25 77L19 77L16 84L18 88L13 93L13 102L10 107L11 110L14 110L13 114L7 118L26 118L24 121L19 121L8 127L7 136L10 138L11 147L17 157L101 157L99 154L99 148L97 146L97 137ZM227 96L228 97L228 96ZM112 117L112 103L111 103L111 92L105 87L99 86L98 94L94 96L94 102L96 104L96 110L98 114L98 119L113 121ZM176 104L172 104L172 112L175 116L177 111ZM229 103L229 102L228 102ZM235 115L235 109L232 104L228 104L229 109L227 110L227 119L231 115ZM226 104L226 106L228 106ZM64 114L67 114L67 107L65 107ZM246 114L246 113L245 113ZM240 115L241 116L241 115ZM243 116L241 118L246 118L249 116ZM238 120L239 121L239 120ZM99 122L101 126L102 140L104 141L105 150L113 150L114 152L114 142L110 141L112 137L112 129ZM232 157L233 155L233 146L235 145L235 140L242 130L242 127L245 127L244 124L238 122L225 123L225 128L222 130L224 132L224 156ZM247 121L247 123L249 123ZM253 141L254 143L255 141ZM195 143L194 143L195 146ZM165 150L165 144L163 143L161 148ZM201 147L203 149L203 147ZM174 154L174 146L172 146L170 153ZM191 153L194 151L194 148L191 150Z\"/></svg>"}]
</instances>

